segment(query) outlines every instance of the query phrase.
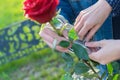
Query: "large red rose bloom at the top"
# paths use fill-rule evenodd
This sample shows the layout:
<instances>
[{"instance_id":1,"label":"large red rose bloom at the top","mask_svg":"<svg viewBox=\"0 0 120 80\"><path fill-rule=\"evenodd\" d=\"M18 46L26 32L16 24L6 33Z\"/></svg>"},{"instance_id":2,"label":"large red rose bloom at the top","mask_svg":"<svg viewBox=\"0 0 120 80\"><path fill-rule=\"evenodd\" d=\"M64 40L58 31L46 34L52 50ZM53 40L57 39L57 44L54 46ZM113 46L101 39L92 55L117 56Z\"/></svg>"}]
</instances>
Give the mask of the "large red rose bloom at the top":
<instances>
[{"instance_id":1,"label":"large red rose bloom at the top","mask_svg":"<svg viewBox=\"0 0 120 80\"><path fill-rule=\"evenodd\" d=\"M25 16L39 23L49 22L56 14L59 0L25 0Z\"/></svg>"}]
</instances>

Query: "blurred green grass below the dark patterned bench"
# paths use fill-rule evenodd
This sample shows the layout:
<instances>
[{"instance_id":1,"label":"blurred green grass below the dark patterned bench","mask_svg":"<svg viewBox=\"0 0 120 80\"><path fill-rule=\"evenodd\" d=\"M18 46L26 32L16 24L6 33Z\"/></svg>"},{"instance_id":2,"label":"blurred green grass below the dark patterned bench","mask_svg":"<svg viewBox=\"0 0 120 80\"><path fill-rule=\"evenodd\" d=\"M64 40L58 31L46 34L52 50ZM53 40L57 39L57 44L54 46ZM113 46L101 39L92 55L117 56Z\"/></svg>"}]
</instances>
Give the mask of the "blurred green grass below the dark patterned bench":
<instances>
[{"instance_id":1,"label":"blurred green grass below the dark patterned bench","mask_svg":"<svg viewBox=\"0 0 120 80\"><path fill-rule=\"evenodd\" d=\"M0 67L0 80L58 80L63 66L60 54L47 48Z\"/></svg>"}]
</instances>

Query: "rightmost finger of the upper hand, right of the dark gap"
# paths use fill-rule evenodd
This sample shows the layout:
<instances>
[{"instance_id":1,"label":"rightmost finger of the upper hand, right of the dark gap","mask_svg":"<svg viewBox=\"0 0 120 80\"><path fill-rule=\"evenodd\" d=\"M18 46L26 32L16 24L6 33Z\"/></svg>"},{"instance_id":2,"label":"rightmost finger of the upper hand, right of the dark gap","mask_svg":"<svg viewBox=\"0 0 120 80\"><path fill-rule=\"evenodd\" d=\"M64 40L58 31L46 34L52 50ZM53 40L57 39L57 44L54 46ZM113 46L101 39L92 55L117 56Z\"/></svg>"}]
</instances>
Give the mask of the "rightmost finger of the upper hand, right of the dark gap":
<instances>
[{"instance_id":1,"label":"rightmost finger of the upper hand, right of the dark gap","mask_svg":"<svg viewBox=\"0 0 120 80\"><path fill-rule=\"evenodd\" d=\"M87 34L87 37L85 38L85 41L90 41L90 39L94 36L94 34L97 32L97 30L100 28L100 25L97 25L93 27L89 33Z\"/></svg>"}]
</instances>

